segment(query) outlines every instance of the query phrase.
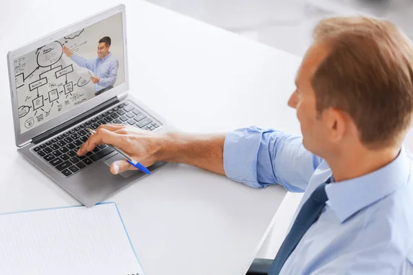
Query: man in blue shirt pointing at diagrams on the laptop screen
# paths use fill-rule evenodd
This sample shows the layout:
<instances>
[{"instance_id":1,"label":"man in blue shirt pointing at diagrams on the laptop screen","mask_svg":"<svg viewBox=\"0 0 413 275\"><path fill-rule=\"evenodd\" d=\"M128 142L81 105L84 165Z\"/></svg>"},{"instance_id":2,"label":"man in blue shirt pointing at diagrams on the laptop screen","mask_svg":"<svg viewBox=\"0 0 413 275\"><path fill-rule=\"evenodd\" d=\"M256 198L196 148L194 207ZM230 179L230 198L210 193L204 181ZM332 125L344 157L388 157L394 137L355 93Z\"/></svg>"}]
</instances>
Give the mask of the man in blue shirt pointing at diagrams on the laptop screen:
<instances>
[{"instance_id":1,"label":"man in blue shirt pointing at diagrams on the laptop screen","mask_svg":"<svg viewBox=\"0 0 413 275\"><path fill-rule=\"evenodd\" d=\"M118 74L118 60L109 52L111 39L109 36L103 37L98 43L98 58L94 60L86 59L73 54L70 49L63 46L63 53L72 59L79 67L85 67L91 70L94 76L90 77L94 83L95 96L102 94L108 89L112 89L116 82Z\"/></svg>"}]
</instances>

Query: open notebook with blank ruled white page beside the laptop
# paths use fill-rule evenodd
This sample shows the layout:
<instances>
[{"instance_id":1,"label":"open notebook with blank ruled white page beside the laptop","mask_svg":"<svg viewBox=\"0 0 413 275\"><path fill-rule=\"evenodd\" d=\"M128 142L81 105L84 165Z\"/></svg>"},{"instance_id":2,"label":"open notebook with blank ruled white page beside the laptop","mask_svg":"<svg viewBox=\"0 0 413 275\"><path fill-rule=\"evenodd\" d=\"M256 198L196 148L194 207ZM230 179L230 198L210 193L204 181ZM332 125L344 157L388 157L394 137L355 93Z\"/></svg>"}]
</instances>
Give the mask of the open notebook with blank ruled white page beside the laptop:
<instances>
[{"instance_id":1,"label":"open notebook with blank ruled white page beside the laptop","mask_svg":"<svg viewBox=\"0 0 413 275\"><path fill-rule=\"evenodd\" d=\"M0 214L0 274L144 275L115 203Z\"/></svg>"}]
</instances>

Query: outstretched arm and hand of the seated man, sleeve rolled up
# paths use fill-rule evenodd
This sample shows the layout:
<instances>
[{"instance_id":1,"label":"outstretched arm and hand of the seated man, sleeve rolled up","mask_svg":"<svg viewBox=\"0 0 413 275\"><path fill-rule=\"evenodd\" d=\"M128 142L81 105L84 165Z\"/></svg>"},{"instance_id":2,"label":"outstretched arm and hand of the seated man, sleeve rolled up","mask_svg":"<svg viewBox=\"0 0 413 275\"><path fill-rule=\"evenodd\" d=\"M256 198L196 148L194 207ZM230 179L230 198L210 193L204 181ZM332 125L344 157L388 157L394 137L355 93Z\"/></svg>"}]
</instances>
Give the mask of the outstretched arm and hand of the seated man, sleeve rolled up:
<instances>
[{"instance_id":1,"label":"outstretched arm and hand of the seated man, sleeve rolled up","mask_svg":"<svg viewBox=\"0 0 413 275\"><path fill-rule=\"evenodd\" d=\"M302 192L321 163L321 158L302 146L301 137L256 127L226 135L193 135L157 134L133 126L107 124L96 132L81 147L79 155L92 151L97 144L111 144L145 166L158 161L180 162L226 175L253 188L282 184L292 192ZM125 161L111 166L115 174L128 169L135 168Z\"/></svg>"}]
</instances>

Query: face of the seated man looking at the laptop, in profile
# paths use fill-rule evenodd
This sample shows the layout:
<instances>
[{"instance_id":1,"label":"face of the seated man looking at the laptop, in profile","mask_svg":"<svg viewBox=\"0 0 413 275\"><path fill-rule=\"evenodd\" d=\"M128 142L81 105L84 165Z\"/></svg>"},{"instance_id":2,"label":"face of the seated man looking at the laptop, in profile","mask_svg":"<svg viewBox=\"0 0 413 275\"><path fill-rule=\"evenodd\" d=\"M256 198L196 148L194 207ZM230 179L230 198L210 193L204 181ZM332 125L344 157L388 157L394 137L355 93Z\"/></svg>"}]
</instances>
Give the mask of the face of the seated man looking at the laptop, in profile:
<instances>
[{"instance_id":1,"label":"face of the seated man looking at the laptop, in profile","mask_svg":"<svg viewBox=\"0 0 413 275\"><path fill-rule=\"evenodd\" d=\"M320 155L328 148L329 141L328 127L324 123L323 115L317 114L315 91L311 80L327 54L325 47L320 45L310 47L297 73L296 89L288 100L288 106L297 110L304 147L316 155Z\"/></svg>"}]
</instances>

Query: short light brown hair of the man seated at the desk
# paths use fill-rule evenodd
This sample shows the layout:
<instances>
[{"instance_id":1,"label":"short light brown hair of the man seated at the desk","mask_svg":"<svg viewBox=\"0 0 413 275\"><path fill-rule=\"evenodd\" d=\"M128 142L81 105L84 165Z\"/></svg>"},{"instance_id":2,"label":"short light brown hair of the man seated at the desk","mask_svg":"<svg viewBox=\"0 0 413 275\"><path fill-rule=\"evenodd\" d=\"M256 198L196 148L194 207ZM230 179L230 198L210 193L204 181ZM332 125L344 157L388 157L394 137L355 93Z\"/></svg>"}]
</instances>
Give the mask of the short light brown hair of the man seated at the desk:
<instances>
[{"instance_id":1,"label":"short light brown hair of the man seated at the desk","mask_svg":"<svg viewBox=\"0 0 413 275\"><path fill-rule=\"evenodd\" d=\"M312 80L318 113L348 113L369 148L400 144L412 120L412 42L393 23L369 17L323 19L313 39L330 50Z\"/></svg>"}]
</instances>

